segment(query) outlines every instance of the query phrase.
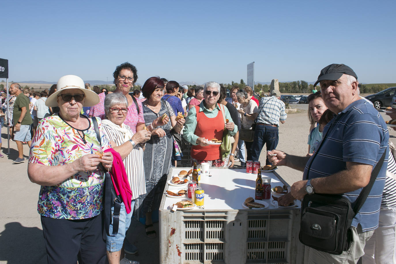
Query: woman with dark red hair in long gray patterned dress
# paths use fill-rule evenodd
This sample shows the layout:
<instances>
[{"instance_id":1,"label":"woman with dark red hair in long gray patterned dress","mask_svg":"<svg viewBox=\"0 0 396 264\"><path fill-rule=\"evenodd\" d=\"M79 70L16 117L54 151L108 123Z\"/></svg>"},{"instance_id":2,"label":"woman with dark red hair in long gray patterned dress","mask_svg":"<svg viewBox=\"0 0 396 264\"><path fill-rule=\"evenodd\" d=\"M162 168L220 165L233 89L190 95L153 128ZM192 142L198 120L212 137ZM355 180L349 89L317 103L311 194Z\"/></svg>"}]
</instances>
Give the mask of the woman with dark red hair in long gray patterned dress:
<instances>
[{"instance_id":1,"label":"woman with dark red hair in long gray patterned dress","mask_svg":"<svg viewBox=\"0 0 396 264\"><path fill-rule=\"evenodd\" d=\"M152 211L158 210L160 206L171 167L173 140L170 131L173 127L179 133L185 122L184 118L176 121L172 106L161 99L164 86L159 77L151 77L142 87L143 96L147 98L143 102L144 118L147 129L151 131L151 138L146 142L143 156L147 193L139 197L138 206L140 213L146 215L146 234L152 238L156 237L152 225Z\"/></svg>"}]
</instances>

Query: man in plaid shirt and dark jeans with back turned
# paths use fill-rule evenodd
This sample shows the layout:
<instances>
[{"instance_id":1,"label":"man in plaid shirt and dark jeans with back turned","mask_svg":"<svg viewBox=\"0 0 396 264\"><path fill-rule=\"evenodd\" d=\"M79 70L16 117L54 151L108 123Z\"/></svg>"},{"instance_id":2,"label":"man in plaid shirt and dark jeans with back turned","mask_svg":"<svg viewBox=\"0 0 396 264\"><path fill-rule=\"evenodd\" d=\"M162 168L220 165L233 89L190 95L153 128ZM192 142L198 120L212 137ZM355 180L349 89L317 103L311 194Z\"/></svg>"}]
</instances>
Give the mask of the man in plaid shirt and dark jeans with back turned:
<instances>
[{"instance_id":1,"label":"man in plaid shirt and dark jeans with back turned","mask_svg":"<svg viewBox=\"0 0 396 264\"><path fill-rule=\"evenodd\" d=\"M253 161L259 161L261 150L264 144L267 151L273 150L278 145L278 126L285 123L287 114L285 103L279 100L280 91L272 90L270 97L262 97L259 105L259 115L254 131L254 141L251 149ZM271 164L266 160L266 165Z\"/></svg>"}]
</instances>

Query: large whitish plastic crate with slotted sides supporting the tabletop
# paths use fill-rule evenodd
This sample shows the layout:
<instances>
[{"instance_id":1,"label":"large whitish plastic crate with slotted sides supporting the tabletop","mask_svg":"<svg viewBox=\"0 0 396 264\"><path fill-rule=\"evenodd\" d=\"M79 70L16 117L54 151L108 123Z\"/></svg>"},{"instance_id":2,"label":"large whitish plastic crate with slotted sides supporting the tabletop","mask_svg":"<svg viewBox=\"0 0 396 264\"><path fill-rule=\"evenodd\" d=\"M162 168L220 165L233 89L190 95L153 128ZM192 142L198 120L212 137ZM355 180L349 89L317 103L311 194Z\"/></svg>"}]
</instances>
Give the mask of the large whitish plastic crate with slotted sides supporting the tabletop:
<instances>
[{"instance_id":1,"label":"large whitish plastic crate with slotted sides supporting the tabletop","mask_svg":"<svg viewBox=\"0 0 396 264\"><path fill-rule=\"evenodd\" d=\"M299 208L173 212L164 201L161 263L303 263L304 249L297 234Z\"/></svg>"}]
</instances>

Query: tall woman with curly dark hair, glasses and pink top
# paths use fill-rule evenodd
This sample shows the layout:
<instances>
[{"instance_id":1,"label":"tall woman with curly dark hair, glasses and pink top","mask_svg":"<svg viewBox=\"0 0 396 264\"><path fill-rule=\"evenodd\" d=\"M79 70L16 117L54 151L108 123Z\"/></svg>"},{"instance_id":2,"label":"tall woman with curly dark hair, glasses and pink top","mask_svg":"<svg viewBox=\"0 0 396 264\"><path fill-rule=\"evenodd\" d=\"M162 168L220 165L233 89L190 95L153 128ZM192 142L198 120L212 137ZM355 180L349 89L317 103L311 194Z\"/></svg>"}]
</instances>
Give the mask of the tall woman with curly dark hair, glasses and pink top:
<instances>
[{"instance_id":1,"label":"tall woman with curly dark hair, glasses and pink top","mask_svg":"<svg viewBox=\"0 0 396 264\"><path fill-rule=\"evenodd\" d=\"M128 113L124 123L131 127L133 133L136 133L145 126L142 103L129 95L129 90L137 80L137 69L128 62L122 63L114 70L113 77L116 85L114 93L122 93L128 99ZM101 119L105 119L105 96L105 93L99 93L99 104L91 107L89 116L99 116Z\"/></svg>"}]
</instances>

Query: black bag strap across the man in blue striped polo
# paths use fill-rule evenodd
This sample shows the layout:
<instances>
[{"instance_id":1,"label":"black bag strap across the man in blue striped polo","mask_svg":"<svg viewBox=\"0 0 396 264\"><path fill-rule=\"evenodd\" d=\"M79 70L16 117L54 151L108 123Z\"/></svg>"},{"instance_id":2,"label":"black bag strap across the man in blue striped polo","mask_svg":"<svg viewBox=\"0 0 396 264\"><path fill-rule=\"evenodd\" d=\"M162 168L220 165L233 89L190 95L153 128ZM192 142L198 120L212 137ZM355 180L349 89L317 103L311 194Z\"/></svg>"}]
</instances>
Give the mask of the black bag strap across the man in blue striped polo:
<instances>
[{"instance_id":1,"label":"black bag strap across the man in blue striped polo","mask_svg":"<svg viewBox=\"0 0 396 264\"><path fill-rule=\"evenodd\" d=\"M337 117L335 117L335 118L337 118ZM311 169L312 162L314 161L316 155L318 155L318 152L319 152L320 148L322 147L322 144L323 144L324 140L326 139L327 133L329 133L329 131L331 129L331 126L335 122L334 119L333 119L333 122L331 122L331 125L330 125L329 129L326 131L326 134L324 135L322 141L320 142L317 151L315 152L313 158L311 159L311 162L309 163L309 166L308 166L308 169L307 169L307 177L305 178L306 180L308 180L308 174L309 174L309 171ZM371 191L371 188L374 185L375 179L377 179L377 175L378 175L379 171L381 170L381 167L382 167L382 165L384 163L385 155L386 155L386 150L382 154L382 156L379 159L377 165L375 165L374 169L371 171L371 176L370 176L369 183L362 189L362 191L360 192L358 198L356 199L356 204L355 204L355 206L353 208L353 212L354 212L353 217L355 217L357 215L359 210L362 208L364 202L366 201L367 196L369 195L369 193Z\"/></svg>"}]
</instances>

